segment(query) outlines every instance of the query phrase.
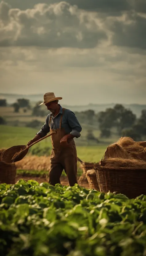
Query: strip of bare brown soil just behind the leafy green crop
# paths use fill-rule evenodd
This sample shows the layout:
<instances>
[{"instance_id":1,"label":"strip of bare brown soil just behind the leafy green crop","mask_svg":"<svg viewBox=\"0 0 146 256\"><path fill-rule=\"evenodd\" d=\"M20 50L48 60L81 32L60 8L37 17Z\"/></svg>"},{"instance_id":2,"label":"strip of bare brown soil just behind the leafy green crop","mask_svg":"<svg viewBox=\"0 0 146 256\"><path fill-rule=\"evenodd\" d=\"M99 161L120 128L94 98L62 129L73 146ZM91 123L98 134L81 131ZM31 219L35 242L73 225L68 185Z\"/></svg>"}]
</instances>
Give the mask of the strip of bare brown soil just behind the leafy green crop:
<instances>
[{"instance_id":1,"label":"strip of bare brown soil just behind the leafy green crop","mask_svg":"<svg viewBox=\"0 0 146 256\"><path fill-rule=\"evenodd\" d=\"M36 180L39 184L42 183L42 182L48 182L48 180L46 178L42 178L42 177L25 177L25 176L22 176L22 175L17 175L16 176L16 182L20 179L23 179L23 180L26 180L26 181ZM79 180L79 177L78 177L78 180ZM65 177L65 176L61 176L60 182L64 186L69 186L67 177ZM86 182L86 181L79 182L79 186L87 188L87 189L90 188L88 182Z\"/></svg>"}]
</instances>

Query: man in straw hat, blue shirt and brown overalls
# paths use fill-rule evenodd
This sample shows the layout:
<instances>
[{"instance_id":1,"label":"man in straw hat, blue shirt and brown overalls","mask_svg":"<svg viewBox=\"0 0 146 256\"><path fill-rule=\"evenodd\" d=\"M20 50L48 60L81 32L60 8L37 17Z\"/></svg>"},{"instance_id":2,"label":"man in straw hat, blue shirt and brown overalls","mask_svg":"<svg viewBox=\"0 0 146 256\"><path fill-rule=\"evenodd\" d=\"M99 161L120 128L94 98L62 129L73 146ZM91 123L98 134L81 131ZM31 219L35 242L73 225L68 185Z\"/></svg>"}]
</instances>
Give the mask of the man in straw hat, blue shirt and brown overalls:
<instances>
[{"instance_id":1,"label":"man in straw hat, blue shirt and brown overalls","mask_svg":"<svg viewBox=\"0 0 146 256\"><path fill-rule=\"evenodd\" d=\"M45 93L44 102L50 110L46 122L36 136L27 143L27 146L47 135L48 132L56 131L51 135L52 151L50 158L49 184L55 186L60 183L62 171L67 174L70 186L74 186L77 181L77 151L73 138L79 138L82 127L75 114L62 108L58 100L62 97L55 97L54 93Z\"/></svg>"}]
</instances>

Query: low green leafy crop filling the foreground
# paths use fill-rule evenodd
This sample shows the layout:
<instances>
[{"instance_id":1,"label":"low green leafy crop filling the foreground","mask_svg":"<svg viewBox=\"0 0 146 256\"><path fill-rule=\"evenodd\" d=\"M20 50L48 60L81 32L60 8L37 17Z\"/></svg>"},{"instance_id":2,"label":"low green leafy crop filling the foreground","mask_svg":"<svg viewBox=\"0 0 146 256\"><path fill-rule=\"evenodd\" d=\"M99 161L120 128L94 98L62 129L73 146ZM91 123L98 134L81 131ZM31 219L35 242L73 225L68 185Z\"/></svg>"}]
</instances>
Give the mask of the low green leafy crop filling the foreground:
<instances>
[{"instance_id":1,"label":"low green leafy crop filling the foreground","mask_svg":"<svg viewBox=\"0 0 146 256\"><path fill-rule=\"evenodd\" d=\"M19 180L0 185L1 256L144 256L146 196Z\"/></svg>"}]
</instances>

